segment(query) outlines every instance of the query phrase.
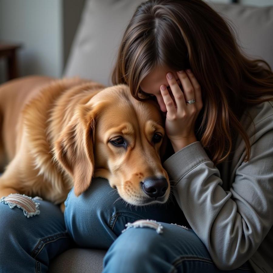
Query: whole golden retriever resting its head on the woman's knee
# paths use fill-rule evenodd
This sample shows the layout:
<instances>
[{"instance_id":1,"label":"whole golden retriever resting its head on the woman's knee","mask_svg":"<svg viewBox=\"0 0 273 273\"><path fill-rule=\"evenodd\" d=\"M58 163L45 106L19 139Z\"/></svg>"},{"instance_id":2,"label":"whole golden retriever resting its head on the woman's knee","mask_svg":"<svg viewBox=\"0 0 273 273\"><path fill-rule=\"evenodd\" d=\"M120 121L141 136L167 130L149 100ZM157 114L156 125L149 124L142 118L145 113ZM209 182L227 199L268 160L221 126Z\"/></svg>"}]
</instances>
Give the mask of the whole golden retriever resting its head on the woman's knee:
<instances>
[{"instance_id":1,"label":"whole golden retriever resting its head on the woman's knee","mask_svg":"<svg viewBox=\"0 0 273 273\"><path fill-rule=\"evenodd\" d=\"M0 197L62 203L104 177L130 204L164 203L170 181L160 155L157 103L137 101L125 84L28 76L0 86Z\"/></svg>"}]
</instances>

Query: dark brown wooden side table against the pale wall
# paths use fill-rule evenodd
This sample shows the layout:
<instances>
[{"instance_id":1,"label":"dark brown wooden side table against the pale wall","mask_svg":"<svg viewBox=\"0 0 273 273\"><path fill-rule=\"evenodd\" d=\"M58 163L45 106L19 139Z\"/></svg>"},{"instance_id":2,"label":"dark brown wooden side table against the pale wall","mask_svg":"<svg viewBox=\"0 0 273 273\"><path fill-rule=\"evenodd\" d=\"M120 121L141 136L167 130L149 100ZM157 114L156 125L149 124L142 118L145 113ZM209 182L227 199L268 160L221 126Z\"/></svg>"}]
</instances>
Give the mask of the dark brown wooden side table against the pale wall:
<instances>
[{"instance_id":1,"label":"dark brown wooden side table against the pale wall","mask_svg":"<svg viewBox=\"0 0 273 273\"><path fill-rule=\"evenodd\" d=\"M5 44L0 42L0 58L4 57L7 59L8 80L18 77L16 52L21 47L21 44Z\"/></svg>"}]
</instances>

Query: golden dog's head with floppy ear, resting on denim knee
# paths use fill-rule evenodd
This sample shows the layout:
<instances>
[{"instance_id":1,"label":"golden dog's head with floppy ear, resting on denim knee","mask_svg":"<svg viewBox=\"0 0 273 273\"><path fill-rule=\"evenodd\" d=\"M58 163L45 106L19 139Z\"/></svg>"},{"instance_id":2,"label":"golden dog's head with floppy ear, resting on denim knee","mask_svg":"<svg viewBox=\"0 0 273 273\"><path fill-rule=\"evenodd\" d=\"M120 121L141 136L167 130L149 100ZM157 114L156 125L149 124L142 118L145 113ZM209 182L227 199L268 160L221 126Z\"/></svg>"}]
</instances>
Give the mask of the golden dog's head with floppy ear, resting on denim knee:
<instances>
[{"instance_id":1,"label":"golden dog's head with floppy ear, resting on denim knee","mask_svg":"<svg viewBox=\"0 0 273 273\"><path fill-rule=\"evenodd\" d=\"M75 110L55 143L75 194L104 177L130 204L164 203L170 181L160 156L166 137L156 102L137 101L124 84L103 89Z\"/></svg>"}]
</instances>

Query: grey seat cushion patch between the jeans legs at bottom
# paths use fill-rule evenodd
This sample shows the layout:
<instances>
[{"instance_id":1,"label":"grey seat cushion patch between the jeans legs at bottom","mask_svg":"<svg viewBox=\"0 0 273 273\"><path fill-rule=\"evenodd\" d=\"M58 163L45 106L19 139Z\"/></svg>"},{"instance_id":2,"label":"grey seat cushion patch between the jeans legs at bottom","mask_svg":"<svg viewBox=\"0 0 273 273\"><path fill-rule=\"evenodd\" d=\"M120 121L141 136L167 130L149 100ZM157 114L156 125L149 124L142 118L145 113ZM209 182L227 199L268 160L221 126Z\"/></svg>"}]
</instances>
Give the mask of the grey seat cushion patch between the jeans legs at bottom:
<instances>
[{"instance_id":1,"label":"grey seat cushion patch between the jeans legs at bottom","mask_svg":"<svg viewBox=\"0 0 273 273\"><path fill-rule=\"evenodd\" d=\"M103 257L106 251L72 248L52 261L49 273L99 273L103 270Z\"/></svg>"}]
</instances>

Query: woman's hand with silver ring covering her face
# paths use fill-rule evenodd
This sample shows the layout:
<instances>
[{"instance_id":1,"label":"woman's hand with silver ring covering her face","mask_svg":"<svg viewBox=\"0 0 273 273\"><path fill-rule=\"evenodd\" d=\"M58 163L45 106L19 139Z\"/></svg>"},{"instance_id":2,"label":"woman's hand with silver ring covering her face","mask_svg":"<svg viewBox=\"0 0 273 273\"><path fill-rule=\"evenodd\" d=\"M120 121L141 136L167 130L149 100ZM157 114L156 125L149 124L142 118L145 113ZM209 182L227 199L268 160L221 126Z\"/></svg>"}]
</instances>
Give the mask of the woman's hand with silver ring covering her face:
<instances>
[{"instance_id":1,"label":"woman's hand with silver ring covering her face","mask_svg":"<svg viewBox=\"0 0 273 273\"><path fill-rule=\"evenodd\" d=\"M203 107L201 88L194 74L189 69L176 73L183 91L171 72L166 75L171 91L169 92L165 85L160 86L167 108L165 130L175 152L197 141L194 126ZM186 103L186 100L191 99L195 99L195 103Z\"/></svg>"}]
</instances>

